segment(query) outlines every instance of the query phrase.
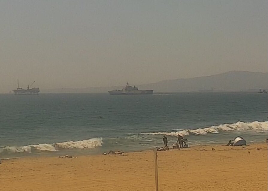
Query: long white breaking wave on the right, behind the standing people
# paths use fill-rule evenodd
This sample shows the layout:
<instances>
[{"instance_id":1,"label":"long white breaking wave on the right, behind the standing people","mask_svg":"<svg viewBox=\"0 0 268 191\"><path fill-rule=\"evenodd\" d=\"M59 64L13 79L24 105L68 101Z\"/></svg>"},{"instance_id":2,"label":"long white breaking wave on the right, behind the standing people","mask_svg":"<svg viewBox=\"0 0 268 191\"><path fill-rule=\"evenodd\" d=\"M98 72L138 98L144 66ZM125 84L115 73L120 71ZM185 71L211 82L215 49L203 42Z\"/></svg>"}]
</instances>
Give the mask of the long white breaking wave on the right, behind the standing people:
<instances>
[{"instance_id":1,"label":"long white breaking wave on the right, behind the standing people","mask_svg":"<svg viewBox=\"0 0 268 191\"><path fill-rule=\"evenodd\" d=\"M265 122L237 122L232 124L222 124L207 128L185 129L176 132L156 132L156 133L141 133L143 135L169 135L177 137L193 135L206 135L208 133L219 133L221 131L268 131L268 121Z\"/></svg>"}]
</instances>

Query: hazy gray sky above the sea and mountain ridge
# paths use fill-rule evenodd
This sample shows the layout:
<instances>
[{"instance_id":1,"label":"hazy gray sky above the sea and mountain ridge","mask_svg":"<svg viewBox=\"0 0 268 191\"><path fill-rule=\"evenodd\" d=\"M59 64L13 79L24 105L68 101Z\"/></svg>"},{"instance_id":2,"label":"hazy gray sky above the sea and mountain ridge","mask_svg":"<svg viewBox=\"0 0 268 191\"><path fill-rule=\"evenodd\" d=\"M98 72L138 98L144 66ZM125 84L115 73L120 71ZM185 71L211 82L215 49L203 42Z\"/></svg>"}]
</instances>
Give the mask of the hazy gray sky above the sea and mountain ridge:
<instances>
[{"instance_id":1,"label":"hazy gray sky above the sea and mountain ridge","mask_svg":"<svg viewBox=\"0 0 268 191\"><path fill-rule=\"evenodd\" d=\"M0 0L0 92L268 72L267 0Z\"/></svg>"}]
</instances>

